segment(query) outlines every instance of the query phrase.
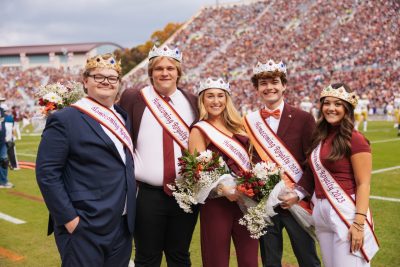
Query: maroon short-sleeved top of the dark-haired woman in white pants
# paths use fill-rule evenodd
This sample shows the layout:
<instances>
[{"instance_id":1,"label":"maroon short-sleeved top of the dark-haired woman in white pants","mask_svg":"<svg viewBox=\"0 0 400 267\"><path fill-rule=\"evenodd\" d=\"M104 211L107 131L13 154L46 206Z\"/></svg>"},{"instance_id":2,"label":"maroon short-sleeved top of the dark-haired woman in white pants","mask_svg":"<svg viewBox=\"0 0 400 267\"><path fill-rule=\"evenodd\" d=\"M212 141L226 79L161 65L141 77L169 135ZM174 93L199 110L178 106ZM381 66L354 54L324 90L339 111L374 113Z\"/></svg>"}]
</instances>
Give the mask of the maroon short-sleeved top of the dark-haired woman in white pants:
<instances>
[{"instance_id":1,"label":"maroon short-sleeved top of the dark-haired woman in white pants","mask_svg":"<svg viewBox=\"0 0 400 267\"><path fill-rule=\"evenodd\" d=\"M354 178L353 168L351 166L351 161L349 157L344 157L337 161L328 160L327 157L332 148L332 141L336 136L338 127L333 127L328 134L328 137L322 142L321 147L321 162L324 167L332 174L333 178L339 185L346 191L347 194L352 195L356 192L356 181ZM353 130L351 136L351 155L368 152L371 153L371 148L365 137ZM324 192L320 183L316 180L317 177L314 176L315 183L315 195L317 198L325 198Z\"/></svg>"}]
</instances>

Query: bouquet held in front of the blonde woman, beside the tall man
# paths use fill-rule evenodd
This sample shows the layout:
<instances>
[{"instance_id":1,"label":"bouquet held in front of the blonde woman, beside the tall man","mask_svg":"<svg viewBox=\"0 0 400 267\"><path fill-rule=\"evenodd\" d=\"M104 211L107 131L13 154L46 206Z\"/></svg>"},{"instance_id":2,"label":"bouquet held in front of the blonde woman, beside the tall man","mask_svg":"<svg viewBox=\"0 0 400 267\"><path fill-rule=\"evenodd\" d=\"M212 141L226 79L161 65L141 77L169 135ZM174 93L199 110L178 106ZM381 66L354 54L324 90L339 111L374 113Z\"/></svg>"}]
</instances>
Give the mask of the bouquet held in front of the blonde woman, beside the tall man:
<instances>
[{"instance_id":1,"label":"bouquet held in front of the blonde woman, beside the tall man","mask_svg":"<svg viewBox=\"0 0 400 267\"><path fill-rule=\"evenodd\" d=\"M168 187L179 206L191 213L191 206L204 203L211 190L227 175L228 168L222 157L210 150L194 154L184 151L178 160L180 177Z\"/></svg>"}]
</instances>

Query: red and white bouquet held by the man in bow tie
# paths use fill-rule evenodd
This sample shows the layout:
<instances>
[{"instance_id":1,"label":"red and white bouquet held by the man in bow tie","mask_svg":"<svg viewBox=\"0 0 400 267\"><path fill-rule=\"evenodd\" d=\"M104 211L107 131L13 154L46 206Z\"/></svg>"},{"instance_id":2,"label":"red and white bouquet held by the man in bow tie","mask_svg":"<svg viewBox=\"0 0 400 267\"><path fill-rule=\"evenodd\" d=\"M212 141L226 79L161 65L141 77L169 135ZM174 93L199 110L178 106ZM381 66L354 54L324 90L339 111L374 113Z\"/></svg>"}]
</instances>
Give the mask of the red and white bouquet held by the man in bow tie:
<instances>
[{"instance_id":1,"label":"red and white bouquet held by the man in bow tie","mask_svg":"<svg viewBox=\"0 0 400 267\"><path fill-rule=\"evenodd\" d=\"M237 178L237 190L244 197L245 215L239 224L247 227L252 238L259 238L266 233L266 226L272 225L266 205L274 187L281 181L282 171L275 163L259 162L249 172Z\"/></svg>"}]
</instances>

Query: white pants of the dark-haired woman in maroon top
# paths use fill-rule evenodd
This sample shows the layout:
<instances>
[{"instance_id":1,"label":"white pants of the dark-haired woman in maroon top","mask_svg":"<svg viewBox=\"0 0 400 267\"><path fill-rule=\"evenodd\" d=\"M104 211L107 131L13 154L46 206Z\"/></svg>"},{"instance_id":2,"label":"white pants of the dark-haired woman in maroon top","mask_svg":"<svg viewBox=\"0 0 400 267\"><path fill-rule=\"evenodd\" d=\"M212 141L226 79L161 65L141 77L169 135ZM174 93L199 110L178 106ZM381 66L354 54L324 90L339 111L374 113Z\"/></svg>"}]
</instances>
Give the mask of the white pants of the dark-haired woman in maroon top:
<instances>
[{"instance_id":1,"label":"white pants of the dark-haired woman in maroon top","mask_svg":"<svg viewBox=\"0 0 400 267\"><path fill-rule=\"evenodd\" d=\"M350 253L350 242L340 238L337 225L343 223L327 199L316 199L313 219L325 267L368 267L365 259ZM342 236L344 236L342 234ZM347 236L347 233L346 235Z\"/></svg>"}]
</instances>

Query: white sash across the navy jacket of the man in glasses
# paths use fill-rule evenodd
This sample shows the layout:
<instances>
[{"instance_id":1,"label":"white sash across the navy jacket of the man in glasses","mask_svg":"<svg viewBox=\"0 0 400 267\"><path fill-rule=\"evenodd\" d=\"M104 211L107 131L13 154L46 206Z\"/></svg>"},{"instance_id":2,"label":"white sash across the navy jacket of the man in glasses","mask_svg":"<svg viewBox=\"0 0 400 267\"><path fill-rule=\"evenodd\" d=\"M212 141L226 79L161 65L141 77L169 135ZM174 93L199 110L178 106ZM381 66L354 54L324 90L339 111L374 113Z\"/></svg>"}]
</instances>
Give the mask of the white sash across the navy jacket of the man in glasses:
<instances>
[{"instance_id":1,"label":"white sash across the navy jacket of the man in glasses","mask_svg":"<svg viewBox=\"0 0 400 267\"><path fill-rule=\"evenodd\" d=\"M86 113L98 123L106 127L115 137L124 144L131 152L133 158L133 143L128 130L118 116L109 108L97 103L96 101L84 97L71 107Z\"/></svg>"}]
</instances>

